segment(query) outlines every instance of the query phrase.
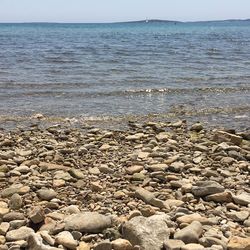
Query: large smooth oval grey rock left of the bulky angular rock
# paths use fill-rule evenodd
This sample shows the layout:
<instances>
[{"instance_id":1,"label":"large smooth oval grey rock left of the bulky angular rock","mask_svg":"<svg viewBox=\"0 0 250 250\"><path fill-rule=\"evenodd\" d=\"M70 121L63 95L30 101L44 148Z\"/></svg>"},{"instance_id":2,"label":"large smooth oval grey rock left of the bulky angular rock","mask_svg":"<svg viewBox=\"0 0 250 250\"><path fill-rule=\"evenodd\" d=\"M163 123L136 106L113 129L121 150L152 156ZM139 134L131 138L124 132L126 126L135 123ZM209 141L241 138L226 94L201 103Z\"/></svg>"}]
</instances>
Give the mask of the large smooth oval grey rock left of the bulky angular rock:
<instances>
[{"instance_id":1,"label":"large smooth oval grey rock left of the bulky angular rock","mask_svg":"<svg viewBox=\"0 0 250 250\"><path fill-rule=\"evenodd\" d=\"M65 230L100 233L111 226L111 218L96 212L73 214L65 218Z\"/></svg>"}]
</instances>

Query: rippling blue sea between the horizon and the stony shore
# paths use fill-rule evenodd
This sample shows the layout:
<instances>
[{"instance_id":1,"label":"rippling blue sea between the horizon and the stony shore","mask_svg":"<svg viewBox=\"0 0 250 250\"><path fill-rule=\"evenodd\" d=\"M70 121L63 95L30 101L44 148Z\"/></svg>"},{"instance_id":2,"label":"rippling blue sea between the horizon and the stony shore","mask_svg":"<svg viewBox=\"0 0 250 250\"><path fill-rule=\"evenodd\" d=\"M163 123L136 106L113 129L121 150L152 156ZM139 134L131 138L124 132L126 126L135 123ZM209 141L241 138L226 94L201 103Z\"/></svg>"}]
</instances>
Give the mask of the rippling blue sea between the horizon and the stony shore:
<instances>
[{"instance_id":1,"label":"rippling blue sea between the horizon and the stony shore","mask_svg":"<svg viewBox=\"0 0 250 250\"><path fill-rule=\"evenodd\" d=\"M250 20L0 24L0 116L250 127Z\"/></svg>"}]
</instances>

